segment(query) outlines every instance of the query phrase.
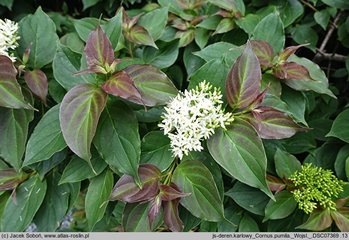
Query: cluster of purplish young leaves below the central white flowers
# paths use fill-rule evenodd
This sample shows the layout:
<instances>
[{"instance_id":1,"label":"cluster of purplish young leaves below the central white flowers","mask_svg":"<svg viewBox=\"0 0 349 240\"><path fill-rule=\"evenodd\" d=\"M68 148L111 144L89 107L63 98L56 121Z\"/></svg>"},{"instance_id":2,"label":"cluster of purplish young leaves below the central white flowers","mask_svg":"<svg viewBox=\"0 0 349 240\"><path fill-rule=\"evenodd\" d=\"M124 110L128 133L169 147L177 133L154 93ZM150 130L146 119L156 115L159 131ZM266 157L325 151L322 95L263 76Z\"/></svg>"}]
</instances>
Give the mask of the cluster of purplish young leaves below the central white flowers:
<instances>
[{"instance_id":1,"label":"cluster of purplish young leaves below the central white flowers","mask_svg":"<svg viewBox=\"0 0 349 240\"><path fill-rule=\"evenodd\" d=\"M150 201L148 208L149 226L152 229L152 222L160 212L161 205L164 209L164 221L172 231L180 232L178 224L178 202L182 196L190 193L182 193L178 186L171 183L170 186L162 185L161 171L151 164L141 164L138 168L138 176L142 188L140 189L134 181L134 177L123 175L115 184L109 200L121 200L128 203L140 202L143 204ZM179 221L178 221L179 219ZM183 225L183 223L182 223Z\"/></svg>"}]
</instances>

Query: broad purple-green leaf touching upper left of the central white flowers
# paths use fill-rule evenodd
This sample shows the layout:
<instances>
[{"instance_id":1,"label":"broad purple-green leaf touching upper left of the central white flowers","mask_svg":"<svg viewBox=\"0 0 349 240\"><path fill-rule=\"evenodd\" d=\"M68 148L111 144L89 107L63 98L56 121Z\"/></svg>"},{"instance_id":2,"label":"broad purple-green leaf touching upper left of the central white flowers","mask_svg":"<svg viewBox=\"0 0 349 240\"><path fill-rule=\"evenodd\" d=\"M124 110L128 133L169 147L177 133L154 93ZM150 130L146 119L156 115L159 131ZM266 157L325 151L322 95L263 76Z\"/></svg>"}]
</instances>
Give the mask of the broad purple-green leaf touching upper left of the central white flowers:
<instances>
[{"instance_id":1,"label":"broad purple-green leaf touching upper left of the central white flowers","mask_svg":"<svg viewBox=\"0 0 349 240\"><path fill-rule=\"evenodd\" d=\"M134 80L134 84L146 106L166 104L171 97L176 97L179 93L166 74L151 65L133 64L123 69L123 71ZM130 101L139 103L138 100L135 101L134 99L130 99Z\"/></svg>"}]
</instances>

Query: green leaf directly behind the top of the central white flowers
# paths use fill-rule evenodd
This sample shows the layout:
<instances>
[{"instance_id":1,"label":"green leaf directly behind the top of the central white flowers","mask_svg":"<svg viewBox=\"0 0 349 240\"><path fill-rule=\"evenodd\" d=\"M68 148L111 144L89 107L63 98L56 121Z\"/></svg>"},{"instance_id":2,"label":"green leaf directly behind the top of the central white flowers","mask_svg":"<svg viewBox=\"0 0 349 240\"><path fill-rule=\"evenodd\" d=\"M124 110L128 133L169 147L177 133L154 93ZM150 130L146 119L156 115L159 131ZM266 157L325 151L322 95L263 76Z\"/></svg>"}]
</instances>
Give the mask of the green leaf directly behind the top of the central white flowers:
<instances>
[{"instance_id":1,"label":"green leaf directly behind the top of the central white flowers","mask_svg":"<svg viewBox=\"0 0 349 240\"><path fill-rule=\"evenodd\" d=\"M228 72L229 68L224 56L212 59L191 76L188 89L195 88L203 80L210 82L216 88L224 89ZM225 92L223 91L221 94L223 95L221 100L226 102Z\"/></svg>"}]
</instances>

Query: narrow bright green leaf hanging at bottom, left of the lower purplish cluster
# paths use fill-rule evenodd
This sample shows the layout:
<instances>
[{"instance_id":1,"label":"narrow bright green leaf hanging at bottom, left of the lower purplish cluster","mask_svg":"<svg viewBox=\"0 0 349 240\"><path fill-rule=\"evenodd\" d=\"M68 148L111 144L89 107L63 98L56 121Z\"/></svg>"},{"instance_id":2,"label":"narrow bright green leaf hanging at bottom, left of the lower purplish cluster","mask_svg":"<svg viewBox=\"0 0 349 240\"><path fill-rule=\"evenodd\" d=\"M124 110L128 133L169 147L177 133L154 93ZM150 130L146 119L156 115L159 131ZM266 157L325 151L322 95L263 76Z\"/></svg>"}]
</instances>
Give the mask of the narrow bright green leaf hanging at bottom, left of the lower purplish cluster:
<instances>
[{"instance_id":1,"label":"narrow bright green leaf hanging at bottom, left of the lower purplish cluster","mask_svg":"<svg viewBox=\"0 0 349 240\"><path fill-rule=\"evenodd\" d=\"M85 211L88 226L92 231L96 222L102 219L106 211L107 204L113 188L113 174L109 171L102 172L92 178L86 193Z\"/></svg>"}]
</instances>

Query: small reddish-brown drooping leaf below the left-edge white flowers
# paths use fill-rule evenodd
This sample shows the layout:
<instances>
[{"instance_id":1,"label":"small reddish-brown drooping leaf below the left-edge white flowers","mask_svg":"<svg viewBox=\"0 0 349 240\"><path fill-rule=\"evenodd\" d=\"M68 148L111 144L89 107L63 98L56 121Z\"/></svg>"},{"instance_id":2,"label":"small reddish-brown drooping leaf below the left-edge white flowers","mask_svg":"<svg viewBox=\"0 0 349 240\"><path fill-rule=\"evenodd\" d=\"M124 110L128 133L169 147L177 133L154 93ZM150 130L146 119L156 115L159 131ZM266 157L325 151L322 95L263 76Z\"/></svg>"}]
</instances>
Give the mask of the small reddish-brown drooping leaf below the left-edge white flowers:
<instances>
[{"instance_id":1,"label":"small reddish-brown drooping leaf below the left-edge white flowers","mask_svg":"<svg viewBox=\"0 0 349 240\"><path fill-rule=\"evenodd\" d=\"M27 71L24 73L24 79L31 90L31 92L39 97L39 99L47 105L46 96L49 88L47 77L40 69Z\"/></svg>"}]
</instances>

